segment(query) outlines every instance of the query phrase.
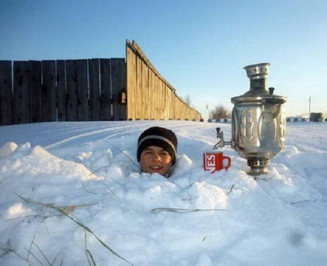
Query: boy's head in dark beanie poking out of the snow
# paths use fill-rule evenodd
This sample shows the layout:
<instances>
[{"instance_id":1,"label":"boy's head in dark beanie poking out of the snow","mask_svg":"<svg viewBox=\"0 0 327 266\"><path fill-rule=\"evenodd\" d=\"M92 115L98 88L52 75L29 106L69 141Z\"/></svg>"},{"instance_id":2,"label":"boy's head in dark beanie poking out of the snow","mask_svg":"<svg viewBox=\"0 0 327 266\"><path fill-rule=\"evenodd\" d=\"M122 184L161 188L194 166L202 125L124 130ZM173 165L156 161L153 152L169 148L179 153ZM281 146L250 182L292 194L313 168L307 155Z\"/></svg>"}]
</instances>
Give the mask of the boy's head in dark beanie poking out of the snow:
<instances>
[{"instance_id":1,"label":"boy's head in dark beanie poking out of the snow","mask_svg":"<svg viewBox=\"0 0 327 266\"><path fill-rule=\"evenodd\" d=\"M177 157L177 137L169 129L151 127L137 141L137 161L141 172L157 173L166 178L173 172Z\"/></svg>"}]
</instances>

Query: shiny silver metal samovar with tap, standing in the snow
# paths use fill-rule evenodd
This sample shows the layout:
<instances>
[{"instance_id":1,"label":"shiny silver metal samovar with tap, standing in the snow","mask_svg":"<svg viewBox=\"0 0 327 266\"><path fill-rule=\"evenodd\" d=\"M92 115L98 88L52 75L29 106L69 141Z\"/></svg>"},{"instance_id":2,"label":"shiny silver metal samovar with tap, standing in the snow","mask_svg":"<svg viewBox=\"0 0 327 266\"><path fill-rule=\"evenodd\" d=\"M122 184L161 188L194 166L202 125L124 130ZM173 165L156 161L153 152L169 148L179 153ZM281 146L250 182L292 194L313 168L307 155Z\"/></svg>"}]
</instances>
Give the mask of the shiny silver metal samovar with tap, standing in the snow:
<instances>
[{"instance_id":1,"label":"shiny silver metal samovar with tap, standing in the snow","mask_svg":"<svg viewBox=\"0 0 327 266\"><path fill-rule=\"evenodd\" d=\"M220 141L214 149L230 144L251 167L249 175L266 174L269 159L284 148L286 118L284 96L273 94L267 88L269 63L244 67L250 79L250 90L231 98L232 128L230 141L223 140L223 132L217 129Z\"/></svg>"}]
</instances>

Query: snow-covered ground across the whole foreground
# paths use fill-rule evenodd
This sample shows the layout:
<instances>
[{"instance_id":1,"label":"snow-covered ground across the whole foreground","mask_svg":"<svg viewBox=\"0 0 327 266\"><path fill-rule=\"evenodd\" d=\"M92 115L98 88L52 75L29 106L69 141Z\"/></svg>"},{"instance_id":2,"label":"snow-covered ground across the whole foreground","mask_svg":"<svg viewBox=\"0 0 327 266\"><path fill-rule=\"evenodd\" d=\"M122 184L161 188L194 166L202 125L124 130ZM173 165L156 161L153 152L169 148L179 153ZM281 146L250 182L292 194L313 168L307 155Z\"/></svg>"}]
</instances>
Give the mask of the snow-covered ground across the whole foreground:
<instances>
[{"instance_id":1,"label":"snow-covered ground across the whole foreground","mask_svg":"<svg viewBox=\"0 0 327 266\"><path fill-rule=\"evenodd\" d=\"M129 159L154 125L178 137L170 179ZM178 121L0 127L0 265L327 265L327 123L288 123L258 181L229 147L228 171L202 169L217 126L229 139Z\"/></svg>"}]
</instances>

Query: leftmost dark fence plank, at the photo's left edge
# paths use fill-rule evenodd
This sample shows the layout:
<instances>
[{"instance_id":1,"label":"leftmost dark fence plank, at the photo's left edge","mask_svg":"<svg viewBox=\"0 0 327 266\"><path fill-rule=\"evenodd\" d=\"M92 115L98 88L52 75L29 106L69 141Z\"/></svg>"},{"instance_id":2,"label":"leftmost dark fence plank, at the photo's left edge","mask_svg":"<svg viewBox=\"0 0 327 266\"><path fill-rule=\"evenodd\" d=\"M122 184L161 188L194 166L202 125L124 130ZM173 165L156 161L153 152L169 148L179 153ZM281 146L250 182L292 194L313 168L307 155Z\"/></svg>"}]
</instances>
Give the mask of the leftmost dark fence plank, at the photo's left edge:
<instances>
[{"instance_id":1,"label":"leftmost dark fence plank, at the photo's left edge","mask_svg":"<svg viewBox=\"0 0 327 266\"><path fill-rule=\"evenodd\" d=\"M0 126L12 124L12 62L0 61Z\"/></svg>"}]
</instances>

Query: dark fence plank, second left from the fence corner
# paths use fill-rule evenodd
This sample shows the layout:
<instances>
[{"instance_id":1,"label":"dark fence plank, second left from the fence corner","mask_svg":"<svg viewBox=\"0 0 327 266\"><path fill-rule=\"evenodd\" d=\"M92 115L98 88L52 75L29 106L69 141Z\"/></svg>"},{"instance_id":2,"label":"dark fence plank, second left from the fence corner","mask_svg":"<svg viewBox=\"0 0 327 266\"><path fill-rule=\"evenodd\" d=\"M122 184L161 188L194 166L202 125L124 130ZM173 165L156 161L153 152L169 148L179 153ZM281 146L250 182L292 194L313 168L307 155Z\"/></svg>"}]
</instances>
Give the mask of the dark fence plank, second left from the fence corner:
<instances>
[{"instance_id":1,"label":"dark fence plank, second left from the fence corner","mask_svg":"<svg viewBox=\"0 0 327 266\"><path fill-rule=\"evenodd\" d=\"M111 115L111 80L110 80L110 59L100 59L100 118L101 120L112 120Z\"/></svg>"}]
</instances>

